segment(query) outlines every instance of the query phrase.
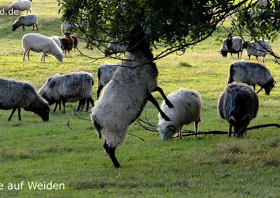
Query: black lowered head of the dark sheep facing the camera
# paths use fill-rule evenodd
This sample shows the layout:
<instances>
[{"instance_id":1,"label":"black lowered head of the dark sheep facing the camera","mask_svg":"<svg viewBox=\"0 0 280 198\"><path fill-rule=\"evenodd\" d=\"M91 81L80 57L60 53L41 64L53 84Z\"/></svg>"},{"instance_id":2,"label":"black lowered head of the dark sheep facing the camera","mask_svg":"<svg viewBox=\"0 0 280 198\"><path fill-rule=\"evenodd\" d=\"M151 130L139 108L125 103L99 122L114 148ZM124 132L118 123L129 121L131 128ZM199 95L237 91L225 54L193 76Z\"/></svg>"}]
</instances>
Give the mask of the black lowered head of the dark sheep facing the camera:
<instances>
[{"instance_id":1,"label":"black lowered head of the dark sheep facing the camera","mask_svg":"<svg viewBox=\"0 0 280 198\"><path fill-rule=\"evenodd\" d=\"M242 116L241 119L237 116L231 116L230 119L228 119L228 122L235 128L237 138L243 137L251 119L253 119L251 114L246 114L245 116Z\"/></svg>"}]
</instances>

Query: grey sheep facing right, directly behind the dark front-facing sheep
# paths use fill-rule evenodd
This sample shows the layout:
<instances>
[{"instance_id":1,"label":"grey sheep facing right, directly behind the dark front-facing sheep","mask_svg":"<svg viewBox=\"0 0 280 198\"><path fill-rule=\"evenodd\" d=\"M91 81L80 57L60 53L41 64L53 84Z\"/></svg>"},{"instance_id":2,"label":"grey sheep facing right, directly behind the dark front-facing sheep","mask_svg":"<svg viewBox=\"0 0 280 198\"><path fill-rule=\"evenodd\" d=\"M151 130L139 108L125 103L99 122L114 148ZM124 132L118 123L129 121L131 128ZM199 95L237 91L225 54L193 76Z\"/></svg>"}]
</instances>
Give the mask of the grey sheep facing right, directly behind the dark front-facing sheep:
<instances>
[{"instance_id":1,"label":"grey sheep facing right, directly behind the dark front-facing sheep","mask_svg":"<svg viewBox=\"0 0 280 198\"><path fill-rule=\"evenodd\" d=\"M267 95L269 95L276 84L265 66L260 63L251 63L249 61L234 62L230 65L228 83L230 84L235 81L252 85L254 91L255 85L258 84L260 90L257 93L265 89Z\"/></svg>"}]
</instances>

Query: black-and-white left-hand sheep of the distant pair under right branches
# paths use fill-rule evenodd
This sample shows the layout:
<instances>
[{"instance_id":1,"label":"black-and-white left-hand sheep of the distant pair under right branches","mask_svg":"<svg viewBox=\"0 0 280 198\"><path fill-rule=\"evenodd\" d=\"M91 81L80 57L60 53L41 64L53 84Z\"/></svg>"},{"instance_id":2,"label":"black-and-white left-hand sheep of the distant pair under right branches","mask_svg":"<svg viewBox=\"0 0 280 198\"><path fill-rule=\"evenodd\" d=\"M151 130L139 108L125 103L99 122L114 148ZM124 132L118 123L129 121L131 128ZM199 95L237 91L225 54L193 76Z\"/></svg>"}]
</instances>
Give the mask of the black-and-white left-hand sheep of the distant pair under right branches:
<instances>
[{"instance_id":1,"label":"black-and-white left-hand sheep of the distant pair under right branches","mask_svg":"<svg viewBox=\"0 0 280 198\"><path fill-rule=\"evenodd\" d=\"M237 54L239 58L239 52L240 52L240 58L242 56L242 39L238 37L233 38L227 38L223 40L223 44L221 46L221 54L223 57L226 57L228 55L228 52L230 52L230 55Z\"/></svg>"}]
</instances>

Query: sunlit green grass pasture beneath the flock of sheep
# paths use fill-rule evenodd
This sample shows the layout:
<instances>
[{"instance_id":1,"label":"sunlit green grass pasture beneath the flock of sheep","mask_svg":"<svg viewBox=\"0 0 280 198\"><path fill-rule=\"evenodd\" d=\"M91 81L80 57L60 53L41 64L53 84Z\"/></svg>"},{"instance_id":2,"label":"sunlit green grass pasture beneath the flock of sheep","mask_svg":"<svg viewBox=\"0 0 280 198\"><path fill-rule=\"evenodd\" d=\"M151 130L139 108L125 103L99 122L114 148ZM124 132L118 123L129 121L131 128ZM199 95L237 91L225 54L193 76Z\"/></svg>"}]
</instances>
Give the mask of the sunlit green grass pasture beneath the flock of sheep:
<instances>
[{"instance_id":1,"label":"sunlit green grass pasture beneath the flock of sheep","mask_svg":"<svg viewBox=\"0 0 280 198\"><path fill-rule=\"evenodd\" d=\"M0 6L8 5L3 0ZM46 36L61 35L55 0L33 1L32 13L38 15L39 31ZM31 82L40 89L46 79L55 73L84 70L94 76L92 98L97 98L97 68L104 59L92 60L77 51L65 56L59 63L50 56L40 62L41 53L30 53L30 62L22 62L19 28L12 32L16 17L0 16L0 77ZM31 27L26 27L29 33ZM225 88L228 68L233 58L218 53L225 32L187 50L186 54L172 54L156 61L159 70L158 85L165 93L181 87L194 89L202 95L202 123L200 130L228 130L228 123L220 118L216 106ZM90 56L103 56L84 48ZM272 44L280 52L280 41ZM154 52L156 53L156 52ZM247 59L246 53L242 56ZM255 61L255 59L253 58ZM280 82L280 66L272 57L266 58L276 82ZM278 84L278 83L277 83ZM277 86L276 84L276 86ZM1 93L0 93L1 94ZM153 96L162 102L158 93ZM258 94L260 109L251 125L279 123L280 89L270 96ZM72 105L77 105L76 103ZM54 107L52 106L52 109ZM148 102L141 118L154 125L158 112ZM9 111L0 110L0 190L1 197L279 197L280 192L280 130L265 128L250 130L243 139L227 135L185 137L161 142L160 135L132 124L130 132L145 139L127 135L123 146L116 150L122 168L115 169L103 150L103 140L90 127L90 121L78 119L71 109L66 114L50 113L50 121L43 123L32 112L22 111L22 121L15 113L8 122ZM90 119L82 112L79 116ZM67 126L69 126L71 129ZM193 125L185 126L193 130ZM25 181L22 190L7 190L8 183ZM64 183L65 190L29 190L27 182ZM0 185L1 186L1 185Z\"/></svg>"}]
</instances>

